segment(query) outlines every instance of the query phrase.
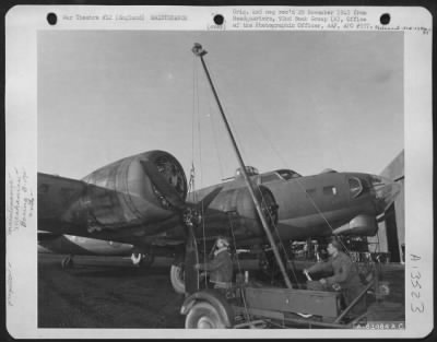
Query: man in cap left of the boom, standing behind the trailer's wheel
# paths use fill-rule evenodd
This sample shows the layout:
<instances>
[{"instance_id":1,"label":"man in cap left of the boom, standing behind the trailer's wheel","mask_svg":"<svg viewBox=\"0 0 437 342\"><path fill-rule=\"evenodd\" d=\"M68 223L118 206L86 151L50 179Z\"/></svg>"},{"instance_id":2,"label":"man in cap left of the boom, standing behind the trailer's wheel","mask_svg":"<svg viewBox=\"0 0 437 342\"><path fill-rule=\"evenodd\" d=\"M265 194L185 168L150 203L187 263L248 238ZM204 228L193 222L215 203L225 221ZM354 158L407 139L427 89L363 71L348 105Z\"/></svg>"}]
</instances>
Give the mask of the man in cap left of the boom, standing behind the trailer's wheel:
<instances>
[{"instance_id":1,"label":"man in cap left of the boom, standing behind the trailer's wheel","mask_svg":"<svg viewBox=\"0 0 437 342\"><path fill-rule=\"evenodd\" d=\"M233 278L233 261L228 251L229 243L225 237L218 237L215 241L213 259L206 263L197 263L197 270L209 271L210 282L215 288L231 286Z\"/></svg>"}]
</instances>

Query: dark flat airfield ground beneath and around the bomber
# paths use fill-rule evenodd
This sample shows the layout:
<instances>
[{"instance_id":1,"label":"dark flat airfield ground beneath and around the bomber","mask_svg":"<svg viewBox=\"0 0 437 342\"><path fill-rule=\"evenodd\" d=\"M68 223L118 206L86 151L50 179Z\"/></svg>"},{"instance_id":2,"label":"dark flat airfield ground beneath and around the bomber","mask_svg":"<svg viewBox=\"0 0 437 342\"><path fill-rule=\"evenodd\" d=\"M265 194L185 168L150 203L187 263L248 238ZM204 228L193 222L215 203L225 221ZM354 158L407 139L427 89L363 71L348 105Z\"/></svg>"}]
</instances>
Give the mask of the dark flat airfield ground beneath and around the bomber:
<instances>
[{"instance_id":1,"label":"dark flat airfield ground beneath and around the bomber","mask_svg":"<svg viewBox=\"0 0 437 342\"><path fill-rule=\"evenodd\" d=\"M184 328L179 309L185 297L169 282L170 259L157 258L146 269L132 267L128 259L75 257L69 270L61 269L61 260L38 256L39 328ZM256 264L243 262L251 269ZM391 284L387 310L394 308L397 320L402 320L403 267L386 267L383 274Z\"/></svg>"}]
</instances>

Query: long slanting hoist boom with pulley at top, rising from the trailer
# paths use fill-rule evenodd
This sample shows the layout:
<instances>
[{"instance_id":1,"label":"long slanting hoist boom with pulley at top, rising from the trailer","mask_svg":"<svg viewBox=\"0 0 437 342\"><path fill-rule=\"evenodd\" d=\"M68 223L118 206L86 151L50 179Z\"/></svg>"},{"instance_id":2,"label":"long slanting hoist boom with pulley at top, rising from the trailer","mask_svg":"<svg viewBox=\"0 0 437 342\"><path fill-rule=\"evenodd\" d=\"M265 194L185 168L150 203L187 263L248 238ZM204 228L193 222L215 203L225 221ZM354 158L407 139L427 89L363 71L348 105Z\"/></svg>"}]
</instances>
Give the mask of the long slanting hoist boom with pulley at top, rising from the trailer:
<instances>
[{"instance_id":1,"label":"long slanting hoist boom with pulley at top, rising from the trailer","mask_svg":"<svg viewBox=\"0 0 437 342\"><path fill-rule=\"evenodd\" d=\"M267 222L267 220L265 220L265 216L264 216L264 214L263 214L263 212L262 212L261 204L260 204L258 198L255 196L253 186L252 186L252 184L251 184L251 181L250 181L249 176L247 175L246 166L245 166L245 163L244 163L244 161L243 161L241 154L239 153L237 143L236 143L235 138L234 138L234 135L233 135L233 133L232 133L232 131L231 131L229 123L227 122L227 119L226 119L226 116L225 116L225 114L224 114L222 104L220 103L217 93L215 92L214 85L213 85L212 80L211 80L211 76L210 76L210 72L208 71L205 61L204 61L204 59L203 59L203 56L206 55L206 50L204 50L204 49L202 48L202 46L201 46L200 44L198 44L198 43L194 44L194 46L192 47L191 50L192 50L192 52L193 52L196 56L200 57L200 60L201 60L201 62L202 62L203 70L204 70L204 72L205 72L205 74L206 74L208 81L209 81L209 83L210 83L212 93L213 93L214 98L215 98L215 102L217 103L218 110L220 110L220 113L221 113L221 115L222 115L223 122L225 123L226 130L227 130L227 132L228 132L228 134L229 134L229 139L231 139L231 141L232 141L233 146L234 146L235 154L236 154L236 156L237 156L239 166L240 166L240 168L241 168L243 177L244 177L244 179L245 179L245 181L246 181L246 185L247 185L247 188L248 188L248 190L249 190L249 193L250 193L250 196L251 196L251 198L252 198L252 200L253 200L253 203L255 203L255 207L256 207L256 209L257 209L258 215L259 215L259 217L260 217L260 220L261 220L261 223L262 223L262 227L264 228L265 235L267 235L267 237L269 238L270 245L272 246L272 250L273 250L273 253L274 253L274 256L275 256L275 258L276 258L276 262L277 262L277 264L279 264L279 267L280 267L280 269L281 269L282 276L284 278L285 285L286 285L288 288L293 288L292 283L291 283L290 279L288 279L288 274L286 273L284 263L283 263L282 260L281 260L281 255L280 255L280 252L279 252L279 250L277 250L277 248L276 248L276 246L275 246L275 244L274 244L274 239L273 239L272 233L271 233L270 229L269 229L269 224L268 224L268 222Z\"/></svg>"}]
</instances>

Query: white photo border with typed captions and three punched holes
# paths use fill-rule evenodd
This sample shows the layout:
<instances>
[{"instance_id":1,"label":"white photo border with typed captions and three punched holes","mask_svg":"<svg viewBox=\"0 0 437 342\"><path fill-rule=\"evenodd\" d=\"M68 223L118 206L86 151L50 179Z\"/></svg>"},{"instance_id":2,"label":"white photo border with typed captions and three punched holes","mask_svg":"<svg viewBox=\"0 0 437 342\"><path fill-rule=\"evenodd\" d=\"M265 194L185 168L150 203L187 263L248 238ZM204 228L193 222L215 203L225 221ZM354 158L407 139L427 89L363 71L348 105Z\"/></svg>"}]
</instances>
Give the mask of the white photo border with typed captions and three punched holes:
<instances>
[{"instance_id":1,"label":"white photo border with typed captions and three punched holes","mask_svg":"<svg viewBox=\"0 0 437 342\"><path fill-rule=\"evenodd\" d=\"M303 7L92 7L17 5L5 16L5 201L7 201L7 329L13 338L422 338L434 328L433 317L433 125L432 125L432 15L424 8L311 7L318 10L366 11L373 25L390 13L390 27L404 34L404 146L405 146L405 329L404 330L224 330L184 329L43 329L37 327L37 32L42 30L167 30L235 31L233 11L244 9L307 9ZM47 13L58 24L47 23ZM144 14L144 21L66 21L63 15L95 13ZM179 15L187 20L151 21L151 14ZM223 26L212 22L215 14ZM249 28L244 28L249 30ZM250 30L305 30L263 27ZM340 31L344 31L341 28ZM347 28L353 31L355 28ZM370 28L368 28L370 30ZM385 33L383 30L381 34ZM26 182L34 214L26 227L14 225L10 202L19 177ZM32 197L32 198L31 198ZM420 282L420 287L417 286ZM412 295L412 293L416 295ZM417 296L418 293L418 296ZM421 312L423 310L423 312Z\"/></svg>"}]
</instances>

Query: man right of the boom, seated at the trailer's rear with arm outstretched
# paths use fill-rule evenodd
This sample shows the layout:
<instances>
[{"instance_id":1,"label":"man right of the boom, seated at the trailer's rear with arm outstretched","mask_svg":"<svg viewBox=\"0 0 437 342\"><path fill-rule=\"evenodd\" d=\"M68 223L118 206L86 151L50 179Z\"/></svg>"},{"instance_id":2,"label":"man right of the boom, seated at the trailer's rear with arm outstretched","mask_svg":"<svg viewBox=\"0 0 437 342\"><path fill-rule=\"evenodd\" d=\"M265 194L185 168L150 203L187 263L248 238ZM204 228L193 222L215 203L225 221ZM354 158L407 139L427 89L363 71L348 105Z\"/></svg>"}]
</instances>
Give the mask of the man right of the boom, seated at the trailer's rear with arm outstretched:
<instances>
[{"instance_id":1,"label":"man right of the boom, seated at the trailer's rear with arm outstretched","mask_svg":"<svg viewBox=\"0 0 437 342\"><path fill-rule=\"evenodd\" d=\"M344 296L346 307L358 296L363 290L363 284L359 279L358 270L351 258L342 251L341 243L333 238L328 245L328 253L330 258L326 262L318 262L304 270L308 273L331 272L332 276L322 278L319 280L323 290L341 290ZM366 311L366 296L351 309L353 316L362 315Z\"/></svg>"}]
</instances>

